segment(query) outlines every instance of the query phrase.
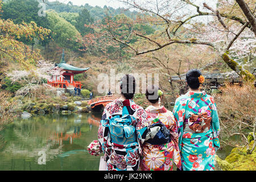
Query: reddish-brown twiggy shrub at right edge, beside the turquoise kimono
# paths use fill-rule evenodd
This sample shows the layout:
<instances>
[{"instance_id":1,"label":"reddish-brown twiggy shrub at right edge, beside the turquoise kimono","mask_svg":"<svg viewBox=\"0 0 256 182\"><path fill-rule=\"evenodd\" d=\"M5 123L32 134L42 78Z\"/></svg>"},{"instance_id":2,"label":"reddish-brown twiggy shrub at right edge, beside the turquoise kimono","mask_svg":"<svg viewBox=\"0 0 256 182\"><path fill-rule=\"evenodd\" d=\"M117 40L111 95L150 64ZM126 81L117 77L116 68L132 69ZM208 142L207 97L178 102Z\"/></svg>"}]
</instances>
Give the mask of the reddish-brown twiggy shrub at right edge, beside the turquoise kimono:
<instances>
[{"instance_id":1,"label":"reddish-brown twiggy shrub at right edge, beside the turquoise kimono","mask_svg":"<svg viewBox=\"0 0 256 182\"><path fill-rule=\"evenodd\" d=\"M255 127L256 88L253 84L245 83L243 86L226 85L220 90L221 94L213 96L220 118L222 144L248 146L247 135ZM241 139L232 141L236 135Z\"/></svg>"}]
</instances>

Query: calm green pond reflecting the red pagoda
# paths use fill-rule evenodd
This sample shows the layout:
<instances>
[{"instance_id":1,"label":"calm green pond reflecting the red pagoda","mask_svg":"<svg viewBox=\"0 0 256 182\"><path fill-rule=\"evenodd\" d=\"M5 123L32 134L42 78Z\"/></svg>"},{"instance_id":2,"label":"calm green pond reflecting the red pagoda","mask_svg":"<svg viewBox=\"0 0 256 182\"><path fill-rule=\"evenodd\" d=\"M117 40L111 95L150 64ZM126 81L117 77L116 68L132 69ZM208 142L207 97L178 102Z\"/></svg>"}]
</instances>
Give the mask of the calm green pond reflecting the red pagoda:
<instances>
[{"instance_id":1,"label":"calm green pond reflecting the red pagoda","mask_svg":"<svg viewBox=\"0 0 256 182\"><path fill-rule=\"evenodd\" d=\"M101 113L16 119L0 131L0 170L98 170L100 156L86 147L97 139L100 119ZM231 150L217 154L225 159Z\"/></svg>"}]
</instances>

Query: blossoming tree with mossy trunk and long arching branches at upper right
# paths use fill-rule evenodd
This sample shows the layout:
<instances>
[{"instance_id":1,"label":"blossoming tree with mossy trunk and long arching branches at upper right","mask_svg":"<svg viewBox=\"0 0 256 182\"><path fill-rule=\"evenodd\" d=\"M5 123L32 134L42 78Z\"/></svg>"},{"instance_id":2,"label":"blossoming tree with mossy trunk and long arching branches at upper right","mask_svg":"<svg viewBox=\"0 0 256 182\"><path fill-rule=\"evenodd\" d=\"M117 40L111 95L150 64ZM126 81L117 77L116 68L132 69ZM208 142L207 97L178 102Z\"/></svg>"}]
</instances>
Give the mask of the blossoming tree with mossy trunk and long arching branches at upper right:
<instances>
[{"instance_id":1,"label":"blossoming tree with mossy trunk and long arching branches at upper right","mask_svg":"<svg viewBox=\"0 0 256 182\"><path fill-rule=\"evenodd\" d=\"M158 51L172 44L187 46L200 45L212 48L218 56L245 80L255 80L254 76L243 68L241 60L255 55L255 35L253 30L255 3L247 0L244 6L238 6L234 0L219 0L215 3L179 0L117 0L124 3L127 9L135 9L141 14L129 22L108 22L94 24L94 34L84 38L85 46L89 44L118 45L119 48L143 55ZM208 1L210 3L212 1ZM115 34L120 24L127 28L122 34ZM135 24L150 24L156 27L154 34L146 35L142 30L135 30ZM121 31L121 30L119 30ZM137 42L132 42L137 39ZM114 43L115 42L115 43ZM242 48L243 50L241 50Z\"/></svg>"}]
</instances>

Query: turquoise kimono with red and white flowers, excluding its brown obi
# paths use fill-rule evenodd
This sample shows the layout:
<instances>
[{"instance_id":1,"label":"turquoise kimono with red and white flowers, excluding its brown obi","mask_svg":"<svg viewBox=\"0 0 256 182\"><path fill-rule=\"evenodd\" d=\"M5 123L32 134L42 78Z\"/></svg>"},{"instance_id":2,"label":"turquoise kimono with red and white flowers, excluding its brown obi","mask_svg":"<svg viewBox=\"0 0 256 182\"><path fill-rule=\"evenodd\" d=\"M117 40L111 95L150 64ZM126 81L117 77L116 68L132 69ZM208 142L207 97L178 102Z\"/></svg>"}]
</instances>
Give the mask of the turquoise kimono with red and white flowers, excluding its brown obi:
<instances>
[{"instance_id":1,"label":"turquoise kimono with red and white flowers, excluding its brown obi","mask_svg":"<svg viewBox=\"0 0 256 182\"><path fill-rule=\"evenodd\" d=\"M189 129L189 114L207 112L212 121L210 129L196 133ZM220 123L217 107L212 96L204 91L201 93L187 92L175 101L174 117L178 126L179 149L184 171L214 170L214 155L220 147L218 134Z\"/></svg>"}]
</instances>

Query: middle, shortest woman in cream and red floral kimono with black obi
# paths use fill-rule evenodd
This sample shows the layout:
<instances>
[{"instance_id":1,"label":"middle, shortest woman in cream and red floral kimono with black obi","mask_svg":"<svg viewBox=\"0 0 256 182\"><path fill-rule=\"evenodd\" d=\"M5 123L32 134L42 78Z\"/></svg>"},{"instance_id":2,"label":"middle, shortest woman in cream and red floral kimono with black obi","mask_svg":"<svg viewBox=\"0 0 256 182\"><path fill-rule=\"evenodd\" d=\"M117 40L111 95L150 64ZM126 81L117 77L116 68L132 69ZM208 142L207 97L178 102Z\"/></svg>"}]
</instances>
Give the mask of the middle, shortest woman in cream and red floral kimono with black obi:
<instances>
[{"instance_id":1,"label":"middle, shortest woman in cream and red floral kimono with black obi","mask_svg":"<svg viewBox=\"0 0 256 182\"><path fill-rule=\"evenodd\" d=\"M142 146L141 169L143 171L172 171L173 163L181 169L181 158L178 147L177 125L174 115L166 107L160 105L163 92L158 86L148 86L146 91L147 100L150 106L147 107L148 122L151 126L155 123L163 123L170 132L170 140L167 143L152 144L146 140ZM159 125L160 126L160 125Z\"/></svg>"}]
</instances>

